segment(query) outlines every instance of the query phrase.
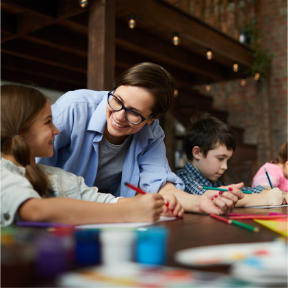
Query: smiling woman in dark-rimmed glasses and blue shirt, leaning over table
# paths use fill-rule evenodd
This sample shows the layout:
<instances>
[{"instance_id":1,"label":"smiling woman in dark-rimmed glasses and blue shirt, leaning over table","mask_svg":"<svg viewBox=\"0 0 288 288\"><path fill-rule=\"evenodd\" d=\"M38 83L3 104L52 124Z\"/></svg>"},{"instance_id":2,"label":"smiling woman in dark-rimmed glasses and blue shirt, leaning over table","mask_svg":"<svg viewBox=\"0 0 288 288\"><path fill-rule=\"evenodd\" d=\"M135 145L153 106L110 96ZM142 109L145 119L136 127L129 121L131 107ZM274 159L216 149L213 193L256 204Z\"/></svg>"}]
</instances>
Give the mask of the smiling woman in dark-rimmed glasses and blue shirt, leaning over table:
<instances>
[{"instance_id":1,"label":"smiling woman in dark-rimmed glasses and blue shirt, leaning over table","mask_svg":"<svg viewBox=\"0 0 288 288\"><path fill-rule=\"evenodd\" d=\"M60 130L54 155L38 163L83 176L88 186L116 197L135 196L128 182L148 193L172 193L186 211L225 213L237 201L235 195L241 196L239 190L226 202L211 202L208 194L187 197L183 182L170 170L158 118L168 111L174 89L168 71L146 62L122 73L110 92L64 94L52 105Z\"/></svg>"}]
</instances>

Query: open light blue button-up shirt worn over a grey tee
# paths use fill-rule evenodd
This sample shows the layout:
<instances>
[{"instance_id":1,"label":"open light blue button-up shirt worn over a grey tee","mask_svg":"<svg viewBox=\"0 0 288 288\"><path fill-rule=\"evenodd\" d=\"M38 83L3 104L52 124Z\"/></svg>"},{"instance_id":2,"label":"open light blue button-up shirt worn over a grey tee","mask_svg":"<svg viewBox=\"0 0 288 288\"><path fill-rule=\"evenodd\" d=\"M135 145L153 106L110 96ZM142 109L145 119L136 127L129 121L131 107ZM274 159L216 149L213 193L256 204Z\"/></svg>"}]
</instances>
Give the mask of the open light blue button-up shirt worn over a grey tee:
<instances>
[{"instance_id":1,"label":"open light blue button-up shirt worn over a grey tee","mask_svg":"<svg viewBox=\"0 0 288 288\"><path fill-rule=\"evenodd\" d=\"M60 131L55 136L54 155L36 161L83 176L92 187L98 169L99 142L107 122L107 93L77 90L60 97L52 105L53 122ZM168 165L163 139L158 120L133 134L123 163L121 183L111 187L109 193L133 197L135 192L126 187L125 182L140 185L149 193L157 193L166 182L183 190L183 182Z\"/></svg>"}]
</instances>

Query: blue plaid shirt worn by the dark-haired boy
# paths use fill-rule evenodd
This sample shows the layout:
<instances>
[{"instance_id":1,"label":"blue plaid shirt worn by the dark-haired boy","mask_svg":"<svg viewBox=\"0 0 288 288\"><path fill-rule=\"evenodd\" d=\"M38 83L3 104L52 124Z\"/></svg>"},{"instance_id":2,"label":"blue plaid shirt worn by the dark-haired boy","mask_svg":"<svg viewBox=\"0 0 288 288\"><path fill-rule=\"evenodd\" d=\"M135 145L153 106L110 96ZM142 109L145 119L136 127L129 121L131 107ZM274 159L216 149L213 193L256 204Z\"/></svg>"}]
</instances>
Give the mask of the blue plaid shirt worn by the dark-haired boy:
<instances>
[{"instance_id":1,"label":"blue plaid shirt worn by the dark-haired boy","mask_svg":"<svg viewBox=\"0 0 288 288\"><path fill-rule=\"evenodd\" d=\"M202 195L207 190L206 189L199 189L199 186L209 186L209 187L220 187L220 186L226 186L227 184L220 181L209 181L207 180L194 166L187 161L184 168L181 170L178 170L176 172L177 176L184 182L185 184L185 192L189 194L196 194L196 195ZM261 193L263 190L265 190L265 187L262 187L261 185L258 185L257 187L251 188L251 187L243 187L244 191L250 191L253 193Z\"/></svg>"}]
</instances>

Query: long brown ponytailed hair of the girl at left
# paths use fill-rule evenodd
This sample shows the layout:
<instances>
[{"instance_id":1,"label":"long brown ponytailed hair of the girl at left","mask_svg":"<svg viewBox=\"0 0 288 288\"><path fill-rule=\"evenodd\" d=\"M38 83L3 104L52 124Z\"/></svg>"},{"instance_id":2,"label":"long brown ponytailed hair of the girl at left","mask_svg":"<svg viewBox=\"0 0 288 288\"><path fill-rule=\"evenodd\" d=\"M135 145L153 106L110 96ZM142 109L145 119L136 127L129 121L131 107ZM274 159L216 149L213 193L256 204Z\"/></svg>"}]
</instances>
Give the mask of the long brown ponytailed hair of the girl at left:
<instances>
[{"instance_id":1,"label":"long brown ponytailed hair of the girl at left","mask_svg":"<svg viewBox=\"0 0 288 288\"><path fill-rule=\"evenodd\" d=\"M20 85L0 86L0 152L12 155L25 167L25 176L42 196L48 181L44 173L31 166L30 147L21 137L29 131L38 113L47 103L47 96L34 88Z\"/></svg>"}]
</instances>

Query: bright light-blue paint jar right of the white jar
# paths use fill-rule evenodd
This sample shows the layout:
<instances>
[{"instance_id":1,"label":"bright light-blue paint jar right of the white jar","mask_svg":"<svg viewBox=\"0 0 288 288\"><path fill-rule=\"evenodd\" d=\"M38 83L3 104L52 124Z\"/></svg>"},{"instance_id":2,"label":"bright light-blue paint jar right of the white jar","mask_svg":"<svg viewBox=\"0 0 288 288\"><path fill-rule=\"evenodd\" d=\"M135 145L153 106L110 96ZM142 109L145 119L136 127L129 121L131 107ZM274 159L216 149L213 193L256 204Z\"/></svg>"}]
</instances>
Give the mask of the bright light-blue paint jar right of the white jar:
<instances>
[{"instance_id":1,"label":"bright light-blue paint jar right of the white jar","mask_svg":"<svg viewBox=\"0 0 288 288\"><path fill-rule=\"evenodd\" d=\"M165 227L141 228L137 232L136 261L162 265L166 261L168 231Z\"/></svg>"}]
</instances>

